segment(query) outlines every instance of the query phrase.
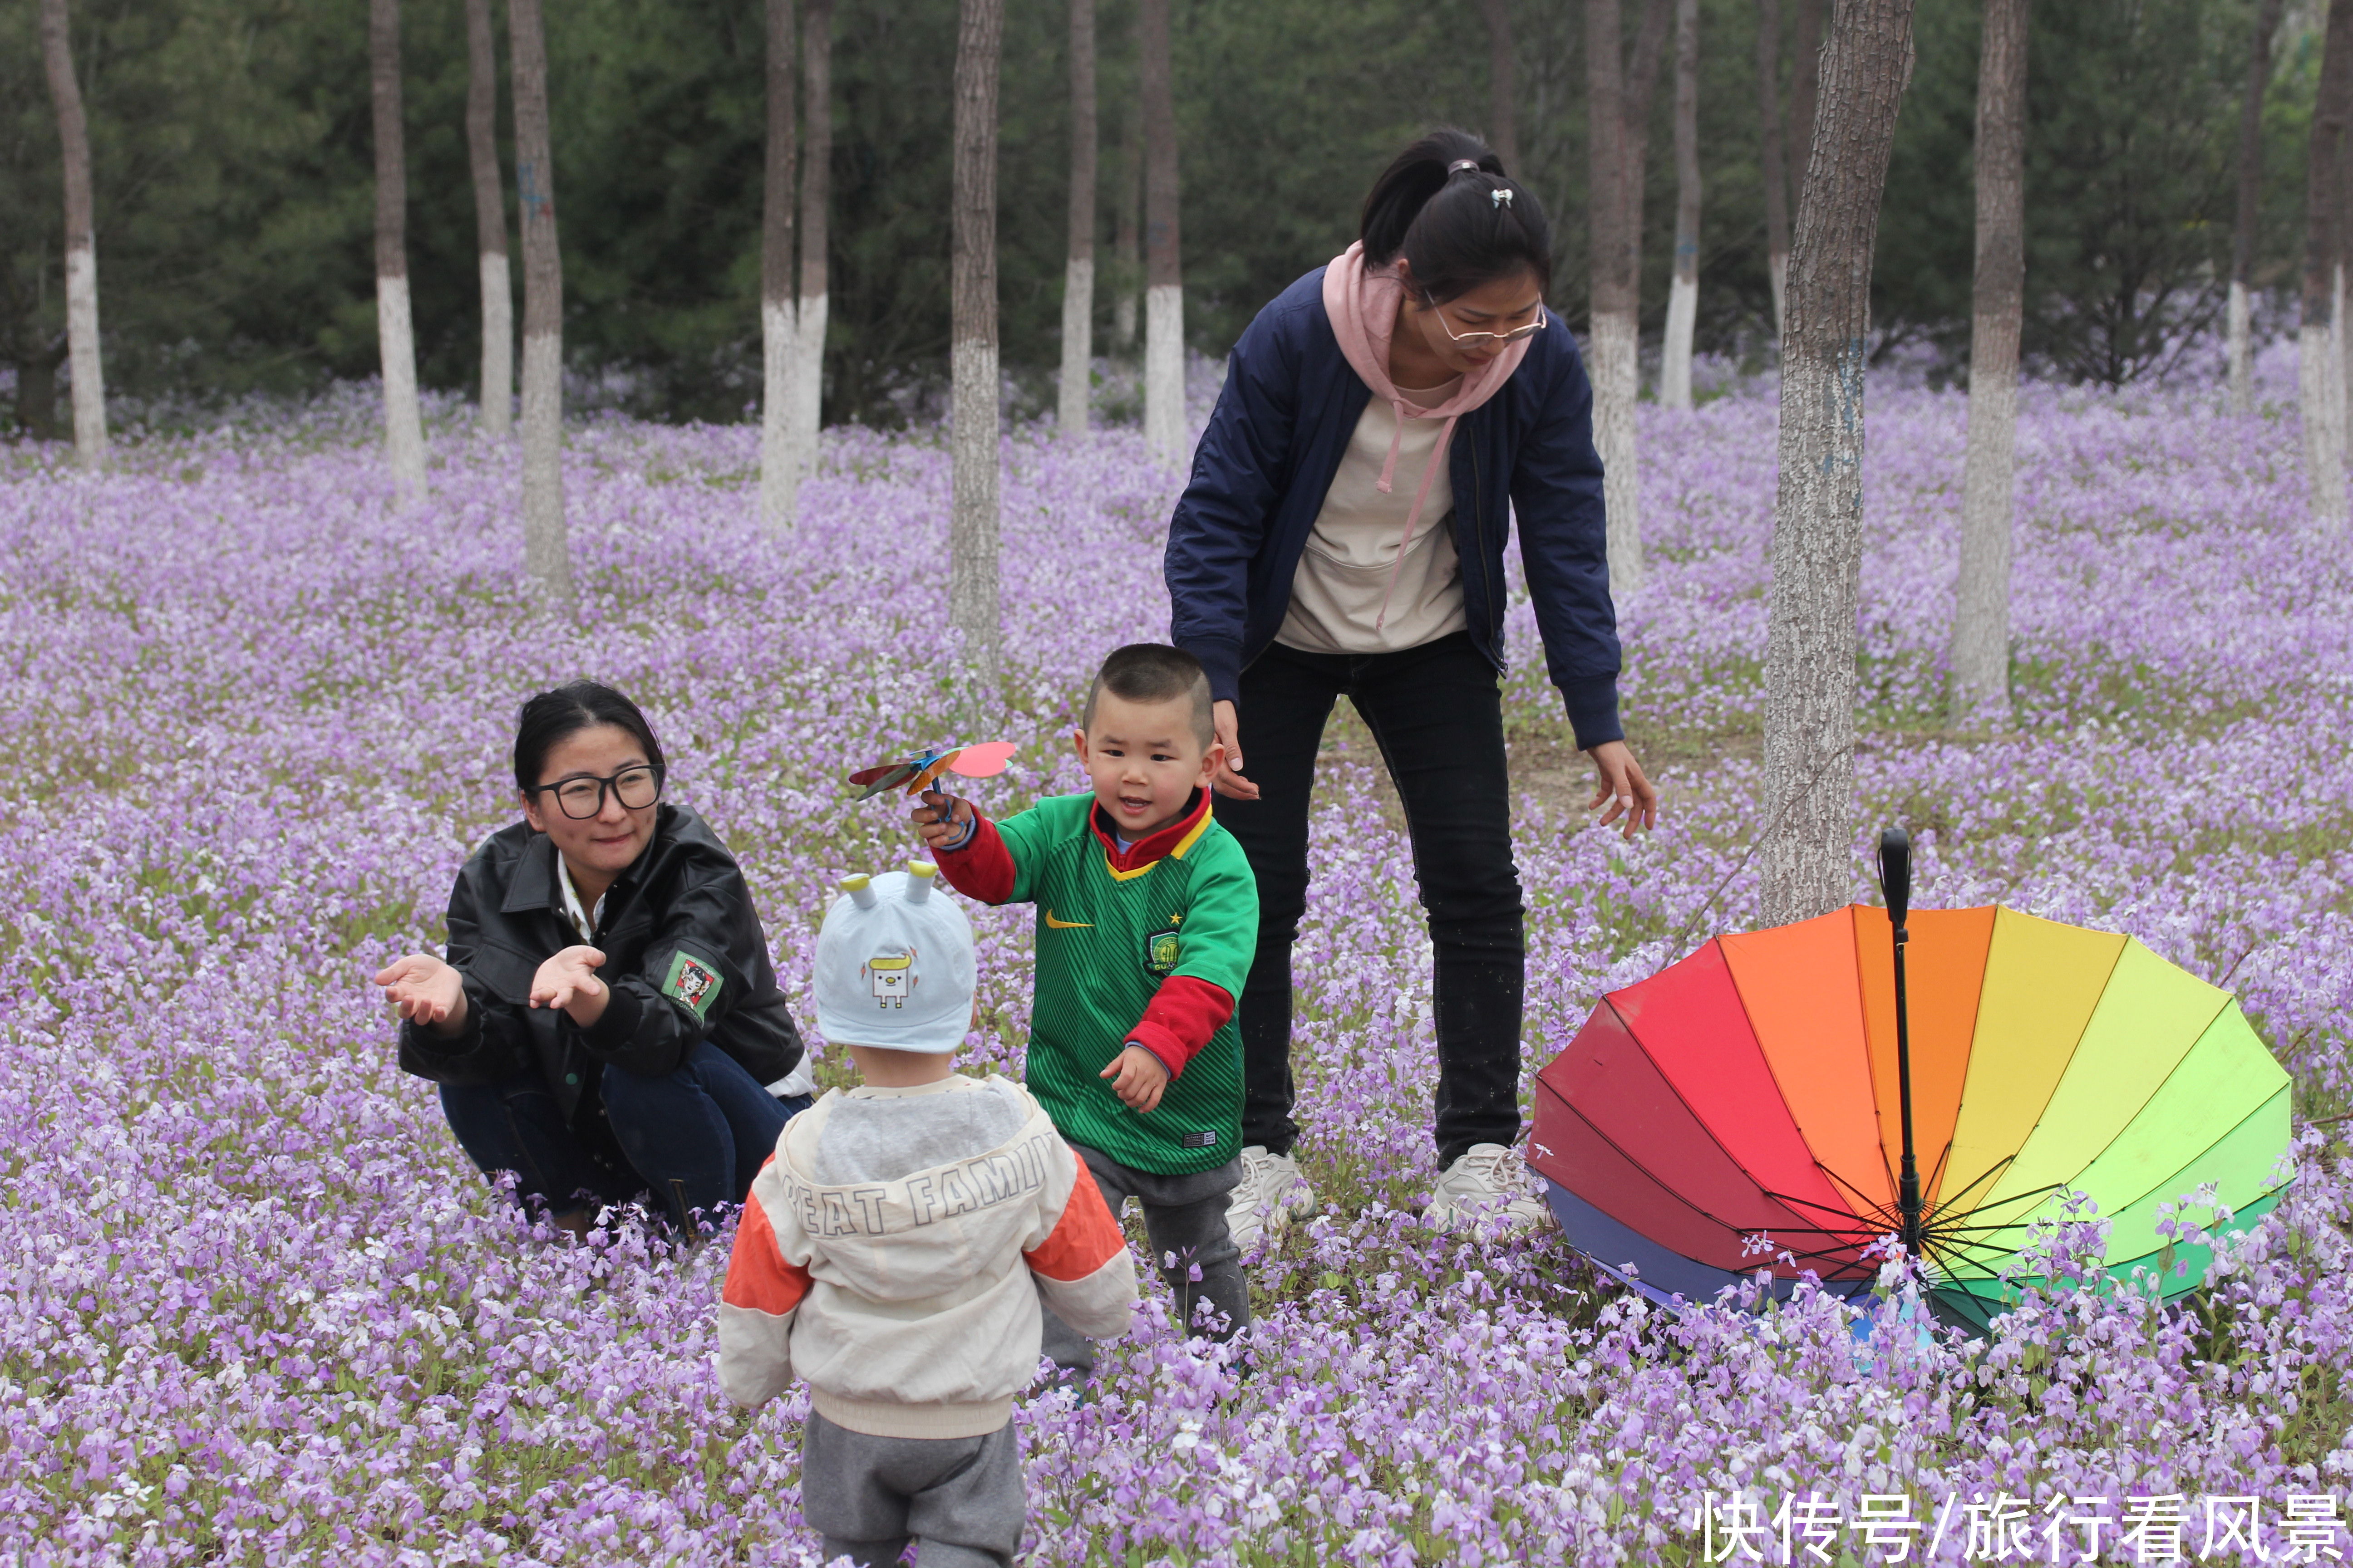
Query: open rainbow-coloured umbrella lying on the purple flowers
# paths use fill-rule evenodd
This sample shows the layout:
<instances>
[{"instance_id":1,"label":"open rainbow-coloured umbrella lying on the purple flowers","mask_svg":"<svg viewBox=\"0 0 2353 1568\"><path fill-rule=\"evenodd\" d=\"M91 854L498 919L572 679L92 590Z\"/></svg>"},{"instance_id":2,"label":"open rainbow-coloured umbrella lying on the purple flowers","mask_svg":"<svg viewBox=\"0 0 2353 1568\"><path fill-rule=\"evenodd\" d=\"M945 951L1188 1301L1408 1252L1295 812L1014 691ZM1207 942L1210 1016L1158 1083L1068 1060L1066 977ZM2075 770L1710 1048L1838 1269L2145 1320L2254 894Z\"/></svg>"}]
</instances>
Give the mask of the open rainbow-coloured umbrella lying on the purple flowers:
<instances>
[{"instance_id":1,"label":"open rainbow-coloured umbrella lying on the purple flowers","mask_svg":"<svg viewBox=\"0 0 2353 1568\"><path fill-rule=\"evenodd\" d=\"M2160 1204L2212 1182L2247 1225L2278 1201L2287 1074L2228 992L2111 931L1892 910L1718 936L1600 999L1537 1074L1529 1133L1572 1246L1657 1300L1706 1300L1758 1269L1857 1295L1901 1237L1939 1316L1986 1326L2071 1192L2111 1222L2118 1276L2160 1260ZM2167 1295L2205 1248L2174 1262Z\"/></svg>"}]
</instances>

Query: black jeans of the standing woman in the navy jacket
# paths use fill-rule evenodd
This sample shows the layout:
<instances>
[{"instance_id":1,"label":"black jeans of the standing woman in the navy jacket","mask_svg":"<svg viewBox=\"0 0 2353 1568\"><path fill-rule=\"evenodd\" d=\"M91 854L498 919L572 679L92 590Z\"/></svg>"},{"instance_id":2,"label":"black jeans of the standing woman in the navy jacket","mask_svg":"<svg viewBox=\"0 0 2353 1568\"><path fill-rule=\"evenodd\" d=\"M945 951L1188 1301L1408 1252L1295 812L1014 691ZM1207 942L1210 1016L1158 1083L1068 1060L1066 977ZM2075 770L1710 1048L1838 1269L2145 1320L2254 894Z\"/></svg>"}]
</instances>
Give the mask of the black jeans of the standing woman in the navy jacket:
<instances>
[{"instance_id":1,"label":"black jeans of the standing woman in the navy jacket","mask_svg":"<svg viewBox=\"0 0 2353 1568\"><path fill-rule=\"evenodd\" d=\"M1308 790L1332 703L1346 696L1405 802L1435 947L1438 1164L1520 1138L1527 943L1511 860L1504 693L1468 632L1398 654L1275 644L1242 670L1242 776L1259 799L1217 820L1259 877L1259 954L1242 987L1242 1143L1285 1154L1292 1121L1292 943L1308 903Z\"/></svg>"}]
</instances>

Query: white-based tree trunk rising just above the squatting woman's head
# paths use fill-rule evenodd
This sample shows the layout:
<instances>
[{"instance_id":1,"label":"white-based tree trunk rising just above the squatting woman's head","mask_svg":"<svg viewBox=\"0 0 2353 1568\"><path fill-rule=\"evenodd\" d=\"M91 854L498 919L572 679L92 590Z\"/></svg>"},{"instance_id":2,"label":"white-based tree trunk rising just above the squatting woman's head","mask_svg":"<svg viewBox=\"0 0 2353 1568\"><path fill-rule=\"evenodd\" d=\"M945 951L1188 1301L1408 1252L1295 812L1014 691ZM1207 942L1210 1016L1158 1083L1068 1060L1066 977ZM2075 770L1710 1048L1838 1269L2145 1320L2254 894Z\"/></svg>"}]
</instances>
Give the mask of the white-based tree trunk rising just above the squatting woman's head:
<instances>
[{"instance_id":1,"label":"white-based tree trunk rising just above the squatting woman's head","mask_svg":"<svg viewBox=\"0 0 2353 1568\"><path fill-rule=\"evenodd\" d=\"M548 42L539 0L508 0L515 66L515 202L522 209L522 555L532 581L572 604L565 536L565 261L555 247Z\"/></svg>"}]
</instances>

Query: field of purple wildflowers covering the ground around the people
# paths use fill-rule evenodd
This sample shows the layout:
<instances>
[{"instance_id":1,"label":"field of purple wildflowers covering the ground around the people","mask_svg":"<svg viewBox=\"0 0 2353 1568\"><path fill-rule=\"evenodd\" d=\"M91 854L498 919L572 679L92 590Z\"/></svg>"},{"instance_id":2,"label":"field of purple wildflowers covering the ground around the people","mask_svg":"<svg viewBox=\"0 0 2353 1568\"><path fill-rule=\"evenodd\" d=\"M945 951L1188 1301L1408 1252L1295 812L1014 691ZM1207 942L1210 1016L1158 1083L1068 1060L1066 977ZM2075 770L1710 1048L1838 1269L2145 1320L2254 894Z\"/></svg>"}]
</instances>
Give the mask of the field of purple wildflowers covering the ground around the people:
<instances>
[{"instance_id":1,"label":"field of purple wildflowers covering the ground around the people","mask_svg":"<svg viewBox=\"0 0 2353 1568\"><path fill-rule=\"evenodd\" d=\"M1016 1415L1028 1561L1687 1563L1807 1495L1746 1544L2162 1561L2179 1516L2188 1561L2353 1549L2308 1512L2353 1486L2353 1159L2325 1121L2353 1103L2353 564L2306 517L2292 383L2266 362L2245 421L2212 388L2026 390L2000 736L1941 719L1965 402L1880 386L1868 411L1864 827L1913 825L1922 905L2129 931L2231 985L2297 1077L2292 1197L2219 1244L2209 1291L2094 1288L2082 1215L2042 1241L2080 1284L1972 1342L1904 1319L1899 1281L1859 1331L1809 1293L1671 1314L1558 1239L1421 1229L1428 952L1369 741L1339 724L1299 954L1329 1213L1254 1265L1247 1378L1172 1340L1151 1284L1092 1403ZM1621 623L1657 835L1588 823L1525 602L1513 628L1529 1072L1602 990L1755 917L1774 404L1734 386L1642 418L1652 581ZM0 458L0 1556L816 1563L805 1396L741 1413L713 1378L725 1239L525 1234L362 980L438 940L452 872L511 818L518 701L595 675L647 705L800 992L828 884L913 846L840 773L1005 736L984 804L1078 788L1085 675L1167 632L1179 477L1132 430L1007 442L1000 703L946 630L936 433L831 433L772 543L755 428L579 423L574 623L522 588L511 451L442 407L402 510L374 421L351 390L134 440L104 477L64 447ZM972 1065L1019 1067L1026 919L979 912Z\"/></svg>"}]
</instances>

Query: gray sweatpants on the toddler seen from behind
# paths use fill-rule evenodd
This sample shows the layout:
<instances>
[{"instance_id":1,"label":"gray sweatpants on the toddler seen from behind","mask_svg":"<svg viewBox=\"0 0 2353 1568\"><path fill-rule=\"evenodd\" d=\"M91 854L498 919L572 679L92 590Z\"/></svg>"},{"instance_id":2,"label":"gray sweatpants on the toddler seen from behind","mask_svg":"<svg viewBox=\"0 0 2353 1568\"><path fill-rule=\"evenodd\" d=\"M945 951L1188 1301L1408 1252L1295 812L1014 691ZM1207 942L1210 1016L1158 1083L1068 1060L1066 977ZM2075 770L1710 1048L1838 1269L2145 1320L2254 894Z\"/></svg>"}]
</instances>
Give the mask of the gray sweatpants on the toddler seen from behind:
<instances>
[{"instance_id":1,"label":"gray sweatpants on the toddler seen from behind","mask_svg":"<svg viewBox=\"0 0 2353 1568\"><path fill-rule=\"evenodd\" d=\"M826 1561L896 1568L1009 1568L1028 1497L1012 1422L988 1436L871 1436L816 1410L800 1432L800 1516L826 1537Z\"/></svg>"}]
</instances>

